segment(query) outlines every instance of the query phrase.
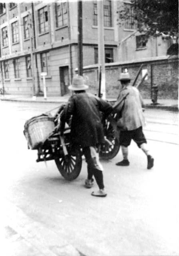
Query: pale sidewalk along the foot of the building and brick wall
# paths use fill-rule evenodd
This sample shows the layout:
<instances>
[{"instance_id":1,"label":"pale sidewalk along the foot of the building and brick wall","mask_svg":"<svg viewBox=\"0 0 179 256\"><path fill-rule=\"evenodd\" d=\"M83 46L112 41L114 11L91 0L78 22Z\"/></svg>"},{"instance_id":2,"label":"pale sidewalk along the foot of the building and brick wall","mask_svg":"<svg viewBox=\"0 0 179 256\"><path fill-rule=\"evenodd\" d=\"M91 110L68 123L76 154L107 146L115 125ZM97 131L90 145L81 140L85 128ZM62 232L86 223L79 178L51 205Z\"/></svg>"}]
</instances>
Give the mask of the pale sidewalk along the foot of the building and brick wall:
<instances>
[{"instance_id":1,"label":"pale sidewalk along the foot of the building and brick wall","mask_svg":"<svg viewBox=\"0 0 179 256\"><path fill-rule=\"evenodd\" d=\"M32 96L23 96L23 95L1 95L1 100L6 101L18 101L18 102L38 102L38 103L62 103L67 102L69 96L49 96L45 100L44 97L39 96L36 97L36 100L32 99ZM115 102L115 99L107 98L110 102ZM159 99L158 105L151 104L151 99L143 99L146 108L157 108L163 110L170 110L170 111L179 111L178 109L178 100L164 100Z\"/></svg>"}]
</instances>

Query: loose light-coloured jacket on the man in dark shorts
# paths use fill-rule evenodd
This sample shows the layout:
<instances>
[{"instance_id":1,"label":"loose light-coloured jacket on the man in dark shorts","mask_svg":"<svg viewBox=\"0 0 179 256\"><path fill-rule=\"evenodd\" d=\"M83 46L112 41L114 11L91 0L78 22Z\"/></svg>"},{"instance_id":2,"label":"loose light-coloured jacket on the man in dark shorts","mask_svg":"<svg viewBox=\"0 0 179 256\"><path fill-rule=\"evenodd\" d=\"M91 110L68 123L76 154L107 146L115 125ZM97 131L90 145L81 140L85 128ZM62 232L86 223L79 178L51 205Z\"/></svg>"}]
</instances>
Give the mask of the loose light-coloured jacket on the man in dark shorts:
<instances>
[{"instance_id":1,"label":"loose light-coloured jacket on the man in dark shorts","mask_svg":"<svg viewBox=\"0 0 179 256\"><path fill-rule=\"evenodd\" d=\"M142 110L144 107L143 100L139 90L134 86L124 86L115 104L117 104L117 102L119 102L128 92L129 95L127 95L125 100L119 104L116 111L118 113L121 112L121 124L130 131L137 129L140 126L144 126L145 119Z\"/></svg>"}]
</instances>

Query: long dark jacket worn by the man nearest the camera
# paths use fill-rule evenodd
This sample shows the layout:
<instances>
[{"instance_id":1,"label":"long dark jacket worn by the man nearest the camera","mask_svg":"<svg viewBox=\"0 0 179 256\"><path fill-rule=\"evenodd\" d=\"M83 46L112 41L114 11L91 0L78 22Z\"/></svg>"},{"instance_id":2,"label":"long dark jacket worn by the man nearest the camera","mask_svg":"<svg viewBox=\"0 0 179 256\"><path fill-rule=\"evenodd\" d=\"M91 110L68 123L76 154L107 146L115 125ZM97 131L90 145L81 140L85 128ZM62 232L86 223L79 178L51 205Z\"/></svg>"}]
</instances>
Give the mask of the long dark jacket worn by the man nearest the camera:
<instances>
[{"instance_id":1,"label":"long dark jacket worn by the man nearest the camera","mask_svg":"<svg viewBox=\"0 0 179 256\"><path fill-rule=\"evenodd\" d=\"M68 122L72 115L71 141L73 144L87 147L103 142L100 111L108 116L112 112L112 106L101 98L86 92L80 92L70 97L60 122L63 127L64 122Z\"/></svg>"}]
</instances>

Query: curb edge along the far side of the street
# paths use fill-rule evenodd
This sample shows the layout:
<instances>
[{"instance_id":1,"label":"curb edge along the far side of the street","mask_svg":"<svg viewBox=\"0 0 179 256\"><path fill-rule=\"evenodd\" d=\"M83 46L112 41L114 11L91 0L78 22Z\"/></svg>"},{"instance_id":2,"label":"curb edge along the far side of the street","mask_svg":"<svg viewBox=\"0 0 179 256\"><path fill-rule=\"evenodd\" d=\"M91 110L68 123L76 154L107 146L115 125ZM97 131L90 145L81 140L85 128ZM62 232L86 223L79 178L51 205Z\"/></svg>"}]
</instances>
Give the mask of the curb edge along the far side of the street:
<instances>
[{"instance_id":1,"label":"curb edge along the far side of the street","mask_svg":"<svg viewBox=\"0 0 179 256\"><path fill-rule=\"evenodd\" d=\"M46 101L46 100L20 100L20 99L6 99L6 98L1 98L3 101L14 101L14 102L33 102L33 103L66 103L67 100L59 100L59 101ZM114 100L109 100L111 104L113 104L115 101ZM168 111L173 111L173 112L179 112L179 108L177 105L171 105L171 106L166 106L163 104L158 104L158 105L152 105L152 104L145 104L145 108L151 108L151 109L161 109L161 110L168 110Z\"/></svg>"}]
</instances>

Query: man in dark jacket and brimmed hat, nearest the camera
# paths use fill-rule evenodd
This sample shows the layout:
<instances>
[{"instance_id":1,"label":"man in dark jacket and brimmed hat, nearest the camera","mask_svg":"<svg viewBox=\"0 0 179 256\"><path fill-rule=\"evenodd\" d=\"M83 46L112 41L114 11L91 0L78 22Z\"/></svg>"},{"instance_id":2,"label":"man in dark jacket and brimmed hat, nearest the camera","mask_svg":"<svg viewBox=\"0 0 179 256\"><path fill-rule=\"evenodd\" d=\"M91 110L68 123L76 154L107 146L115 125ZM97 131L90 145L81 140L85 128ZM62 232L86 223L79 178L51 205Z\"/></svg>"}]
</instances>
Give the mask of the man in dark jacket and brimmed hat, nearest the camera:
<instances>
[{"instance_id":1,"label":"man in dark jacket and brimmed hat, nearest the camera","mask_svg":"<svg viewBox=\"0 0 179 256\"><path fill-rule=\"evenodd\" d=\"M94 176L99 191L92 192L91 195L105 197L107 194L103 184L103 166L99 162L100 144L104 140L100 112L108 116L112 112L112 106L101 98L86 93L88 85L84 84L83 76L74 77L68 88L74 94L69 98L60 117L60 131L63 132L65 122L72 116L71 141L73 145L83 149L87 162L88 178L85 185L91 188Z\"/></svg>"}]
</instances>

